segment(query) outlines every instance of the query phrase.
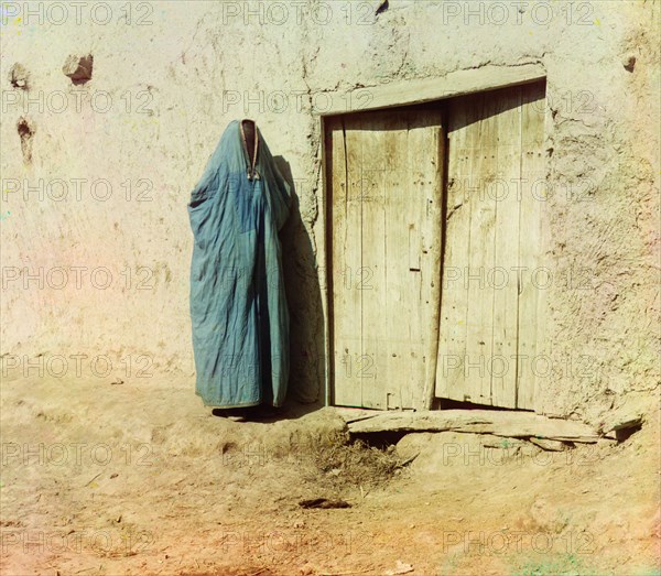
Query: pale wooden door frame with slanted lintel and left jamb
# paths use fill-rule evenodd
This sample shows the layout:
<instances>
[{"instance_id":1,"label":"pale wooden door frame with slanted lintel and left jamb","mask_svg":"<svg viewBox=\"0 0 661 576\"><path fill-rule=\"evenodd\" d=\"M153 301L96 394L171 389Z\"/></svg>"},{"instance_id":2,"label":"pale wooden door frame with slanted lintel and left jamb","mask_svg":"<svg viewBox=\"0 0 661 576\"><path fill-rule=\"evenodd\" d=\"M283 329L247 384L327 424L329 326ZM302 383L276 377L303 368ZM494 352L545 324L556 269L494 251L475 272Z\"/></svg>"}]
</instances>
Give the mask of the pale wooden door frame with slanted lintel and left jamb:
<instances>
[{"instance_id":1,"label":"pale wooden door frame with slanted lintel and left jamb","mask_svg":"<svg viewBox=\"0 0 661 576\"><path fill-rule=\"evenodd\" d=\"M332 354L333 347L333 318L332 318L332 294L328 290L328 275L330 269L330 257L328 252L328 235L332 232L332 222L329 222L330 208L328 203L328 157L326 153L326 119L329 117L360 113L364 111L399 108L409 105L424 104L436 100L445 100L456 96L464 96L478 91L494 90L545 80L546 70L540 63L529 63L516 66L483 66L480 68L470 68L456 70L445 76L435 78L399 80L382 86L370 86L365 88L355 88L351 90L330 90L324 91L326 101L329 106L325 110L313 111L318 116L319 137L321 137L321 182L318 189L321 192L322 233L323 247L317 250L317 263L326 272L326 295L322 298L323 318L324 318L324 405L333 405L332 381ZM321 93L319 93L321 94ZM319 262L319 258L322 261ZM443 264L442 264L443 265ZM424 390L420 402L421 410L430 410L434 400L434 389Z\"/></svg>"}]
</instances>

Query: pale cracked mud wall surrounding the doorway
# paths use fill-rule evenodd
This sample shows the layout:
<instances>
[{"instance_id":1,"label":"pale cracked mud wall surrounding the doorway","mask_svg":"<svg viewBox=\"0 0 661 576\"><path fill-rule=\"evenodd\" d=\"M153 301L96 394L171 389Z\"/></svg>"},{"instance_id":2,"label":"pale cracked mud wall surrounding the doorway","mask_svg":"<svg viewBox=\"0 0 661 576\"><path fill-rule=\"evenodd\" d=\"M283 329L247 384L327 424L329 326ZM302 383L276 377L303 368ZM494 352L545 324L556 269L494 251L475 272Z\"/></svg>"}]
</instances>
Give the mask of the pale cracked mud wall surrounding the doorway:
<instances>
[{"instance_id":1,"label":"pale cracked mud wall surrounding the doorway","mask_svg":"<svg viewBox=\"0 0 661 576\"><path fill-rule=\"evenodd\" d=\"M336 90L541 63L553 278L543 411L594 420L651 398L659 6L380 4L3 2L3 376L192 385L186 203L225 126L251 117L295 184L283 232L291 387L319 401L319 112Z\"/></svg>"}]
</instances>

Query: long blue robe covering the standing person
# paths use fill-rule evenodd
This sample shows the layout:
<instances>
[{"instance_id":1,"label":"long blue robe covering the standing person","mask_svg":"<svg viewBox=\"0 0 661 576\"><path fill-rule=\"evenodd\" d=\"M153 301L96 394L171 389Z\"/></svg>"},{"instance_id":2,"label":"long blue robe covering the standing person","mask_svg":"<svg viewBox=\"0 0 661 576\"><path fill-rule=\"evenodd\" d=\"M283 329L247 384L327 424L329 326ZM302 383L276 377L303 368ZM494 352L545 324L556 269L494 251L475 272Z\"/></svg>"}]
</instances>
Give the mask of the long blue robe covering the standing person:
<instances>
[{"instance_id":1,"label":"long blue robe covering the standing person","mask_svg":"<svg viewBox=\"0 0 661 576\"><path fill-rule=\"evenodd\" d=\"M196 393L205 405L280 406L289 378L289 312L279 230L291 191L259 131L257 162L237 120L193 189L191 318Z\"/></svg>"}]
</instances>

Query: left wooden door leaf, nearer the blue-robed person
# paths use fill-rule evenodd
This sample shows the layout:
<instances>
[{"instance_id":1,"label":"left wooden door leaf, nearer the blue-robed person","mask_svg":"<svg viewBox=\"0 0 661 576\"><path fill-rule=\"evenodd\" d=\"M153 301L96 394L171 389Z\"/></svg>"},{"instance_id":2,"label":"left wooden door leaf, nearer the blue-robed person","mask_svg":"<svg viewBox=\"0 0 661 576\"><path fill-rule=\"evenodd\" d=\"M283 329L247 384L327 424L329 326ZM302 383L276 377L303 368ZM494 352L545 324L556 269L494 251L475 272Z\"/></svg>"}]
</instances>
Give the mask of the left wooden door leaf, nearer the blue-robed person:
<instances>
[{"instance_id":1,"label":"left wooden door leaf, nearer the blue-robed person","mask_svg":"<svg viewBox=\"0 0 661 576\"><path fill-rule=\"evenodd\" d=\"M325 128L333 401L415 407L437 354L441 112L364 112Z\"/></svg>"}]
</instances>

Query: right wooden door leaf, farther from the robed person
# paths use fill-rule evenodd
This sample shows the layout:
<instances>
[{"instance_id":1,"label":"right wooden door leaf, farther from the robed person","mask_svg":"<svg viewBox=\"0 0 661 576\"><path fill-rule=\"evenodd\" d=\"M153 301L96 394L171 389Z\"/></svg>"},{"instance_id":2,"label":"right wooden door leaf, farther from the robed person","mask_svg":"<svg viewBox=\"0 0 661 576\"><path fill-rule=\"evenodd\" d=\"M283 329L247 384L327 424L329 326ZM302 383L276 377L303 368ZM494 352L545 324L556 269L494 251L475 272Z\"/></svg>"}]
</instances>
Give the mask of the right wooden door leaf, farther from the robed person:
<instances>
[{"instance_id":1,"label":"right wooden door leaf, farther from the robed person","mask_svg":"<svg viewBox=\"0 0 661 576\"><path fill-rule=\"evenodd\" d=\"M543 132L540 84L449 106L438 398L533 407L544 322L535 282Z\"/></svg>"}]
</instances>

